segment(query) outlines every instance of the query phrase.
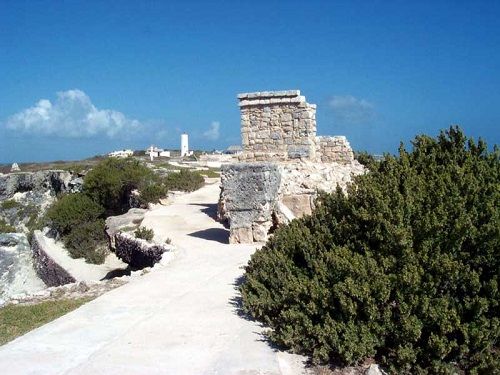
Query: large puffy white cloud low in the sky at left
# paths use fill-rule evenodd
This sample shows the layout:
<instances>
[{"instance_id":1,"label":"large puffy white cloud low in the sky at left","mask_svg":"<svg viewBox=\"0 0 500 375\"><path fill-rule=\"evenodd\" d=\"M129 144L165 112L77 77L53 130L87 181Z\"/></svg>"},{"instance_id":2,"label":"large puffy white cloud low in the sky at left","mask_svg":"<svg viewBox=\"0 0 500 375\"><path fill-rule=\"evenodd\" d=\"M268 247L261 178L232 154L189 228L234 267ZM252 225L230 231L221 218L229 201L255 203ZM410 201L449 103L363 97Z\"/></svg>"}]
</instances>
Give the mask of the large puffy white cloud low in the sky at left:
<instances>
[{"instance_id":1,"label":"large puffy white cloud low in the sky at left","mask_svg":"<svg viewBox=\"0 0 500 375\"><path fill-rule=\"evenodd\" d=\"M35 106L10 116L6 126L29 134L113 138L137 132L141 123L121 112L96 108L81 90L68 90L58 92L54 103L42 99Z\"/></svg>"}]
</instances>

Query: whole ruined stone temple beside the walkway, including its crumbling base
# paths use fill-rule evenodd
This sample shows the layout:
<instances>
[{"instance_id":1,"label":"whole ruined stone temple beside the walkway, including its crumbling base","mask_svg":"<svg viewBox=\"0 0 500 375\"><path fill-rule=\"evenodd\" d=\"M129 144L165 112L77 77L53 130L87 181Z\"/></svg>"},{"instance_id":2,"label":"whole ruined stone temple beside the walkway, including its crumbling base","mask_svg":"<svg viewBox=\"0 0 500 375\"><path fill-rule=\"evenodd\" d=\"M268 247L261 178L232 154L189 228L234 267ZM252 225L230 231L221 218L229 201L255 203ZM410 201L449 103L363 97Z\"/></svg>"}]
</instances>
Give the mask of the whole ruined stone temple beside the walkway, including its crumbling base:
<instances>
[{"instance_id":1,"label":"whole ruined stone temple beside the walkway, including its crumbling base","mask_svg":"<svg viewBox=\"0 0 500 375\"><path fill-rule=\"evenodd\" d=\"M299 90L238 95L243 153L222 167L218 216L231 243L266 241L308 215L318 191L345 189L364 173L343 136L316 135L316 105Z\"/></svg>"}]
</instances>

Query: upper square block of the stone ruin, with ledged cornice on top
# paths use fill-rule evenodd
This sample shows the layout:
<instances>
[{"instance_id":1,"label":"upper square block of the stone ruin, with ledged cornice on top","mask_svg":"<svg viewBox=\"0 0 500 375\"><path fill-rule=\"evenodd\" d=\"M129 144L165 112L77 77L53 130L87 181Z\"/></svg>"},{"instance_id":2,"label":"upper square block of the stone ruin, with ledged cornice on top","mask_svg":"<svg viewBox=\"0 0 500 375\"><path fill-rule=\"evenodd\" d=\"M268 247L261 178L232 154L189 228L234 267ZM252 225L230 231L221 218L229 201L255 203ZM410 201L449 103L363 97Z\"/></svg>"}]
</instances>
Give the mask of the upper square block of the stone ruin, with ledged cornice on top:
<instances>
[{"instance_id":1,"label":"upper square block of the stone ruin, with ledged cornice on top","mask_svg":"<svg viewBox=\"0 0 500 375\"><path fill-rule=\"evenodd\" d=\"M316 105L299 90L239 94L243 161L316 157Z\"/></svg>"}]
</instances>

